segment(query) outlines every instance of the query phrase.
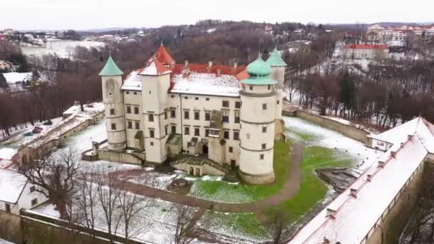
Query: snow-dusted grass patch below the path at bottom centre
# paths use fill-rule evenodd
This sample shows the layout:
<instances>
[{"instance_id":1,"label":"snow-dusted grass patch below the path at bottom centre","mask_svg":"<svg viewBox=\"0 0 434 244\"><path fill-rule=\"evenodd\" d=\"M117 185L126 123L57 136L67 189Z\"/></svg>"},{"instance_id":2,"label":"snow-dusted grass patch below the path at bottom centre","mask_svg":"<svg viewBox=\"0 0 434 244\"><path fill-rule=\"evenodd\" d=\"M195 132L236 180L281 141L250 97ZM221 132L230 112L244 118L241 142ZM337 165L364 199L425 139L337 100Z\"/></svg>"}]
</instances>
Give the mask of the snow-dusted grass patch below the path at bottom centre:
<instances>
[{"instance_id":1,"label":"snow-dusted grass patch below the path at bottom centre","mask_svg":"<svg viewBox=\"0 0 434 244\"><path fill-rule=\"evenodd\" d=\"M201 220L201 227L225 235L268 240L269 234L253 213L220 213L206 211Z\"/></svg>"}]
</instances>

